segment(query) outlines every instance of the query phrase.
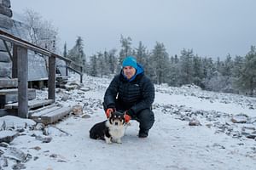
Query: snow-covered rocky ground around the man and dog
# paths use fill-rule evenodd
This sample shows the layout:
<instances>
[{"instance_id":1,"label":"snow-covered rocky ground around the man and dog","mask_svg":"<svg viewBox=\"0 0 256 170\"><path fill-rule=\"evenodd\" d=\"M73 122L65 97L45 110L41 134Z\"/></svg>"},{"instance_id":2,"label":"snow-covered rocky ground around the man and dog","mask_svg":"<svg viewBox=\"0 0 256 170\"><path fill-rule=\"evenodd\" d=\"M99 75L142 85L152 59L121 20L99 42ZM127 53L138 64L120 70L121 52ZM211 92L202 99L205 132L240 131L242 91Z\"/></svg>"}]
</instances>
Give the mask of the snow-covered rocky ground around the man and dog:
<instances>
[{"instance_id":1,"label":"snow-covered rocky ground around the man and dog","mask_svg":"<svg viewBox=\"0 0 256 170\"><path fill-rule=\"evenodd\" d=\"M57 101L62 105L81 105L82 115L67 116L48 127L35 127L31 120L13 116L0 117L0 126L5 120L6 129L19 132L10 144L0 145L3 169L254 170L256 167L255 98L212 93L195 86L155 85L155 123L148 138L139 139L138 123L131 121L122 144L106 144L90 139L89 130L106 118L102 99L111 79L85 76L79 88L75 88L79 85L78 77L70 80L69 90L57 89ZM37 91L37 95L47 98L47 90ZM20 164L14 166L19 159Z\"/></svg>"}]
</instances>

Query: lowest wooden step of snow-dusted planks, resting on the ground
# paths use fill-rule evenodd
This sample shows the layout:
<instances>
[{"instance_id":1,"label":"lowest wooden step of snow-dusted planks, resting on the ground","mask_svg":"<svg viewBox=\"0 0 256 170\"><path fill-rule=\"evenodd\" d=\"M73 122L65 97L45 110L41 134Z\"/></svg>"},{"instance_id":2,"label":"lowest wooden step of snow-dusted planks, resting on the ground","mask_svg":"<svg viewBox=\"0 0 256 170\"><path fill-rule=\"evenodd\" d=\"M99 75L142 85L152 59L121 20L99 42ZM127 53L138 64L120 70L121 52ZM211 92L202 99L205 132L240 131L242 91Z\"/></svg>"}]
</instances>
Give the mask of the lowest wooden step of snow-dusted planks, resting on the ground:
<instances>
[{"instance_id":1,"label":"lowest wooden step of snow-dusted planks, resting on the ground","mask_svg":"<svg viewBox=\"0 0 256 170\"><path fill-rule=\"evenodd\" d=\"M41 111L33 112L30 114L29 118L35 122L41 122L47 125L61 120L64 116L67 116L72 111L72 107L54 105L45 107L44 109L42 108Z\"/></svg>"}]
</instances>

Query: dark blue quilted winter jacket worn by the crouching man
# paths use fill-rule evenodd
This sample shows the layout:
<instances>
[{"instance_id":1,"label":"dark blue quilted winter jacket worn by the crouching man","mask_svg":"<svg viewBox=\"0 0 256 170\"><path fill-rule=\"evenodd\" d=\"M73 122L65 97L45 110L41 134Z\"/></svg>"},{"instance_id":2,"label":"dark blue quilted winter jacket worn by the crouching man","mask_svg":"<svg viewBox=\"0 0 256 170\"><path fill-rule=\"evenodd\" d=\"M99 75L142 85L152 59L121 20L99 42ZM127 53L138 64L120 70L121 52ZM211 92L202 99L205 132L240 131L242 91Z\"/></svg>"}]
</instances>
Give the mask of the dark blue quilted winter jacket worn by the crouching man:
<instances>
[{"instance_id":1,"label":"dark blue quilted winter jacket worn by the crouching man","mask_svg":"<svg viewBox=\"0 0 256 170\"><path fill-rule=\"evenodd\" d=\"M151 108L154 102L154 84L144 75L143 67L137 65L137 72L130 80L123 71L113 77L104 95L105 107L129 110L130 116Z\"/></svg>"}]
</instances>

